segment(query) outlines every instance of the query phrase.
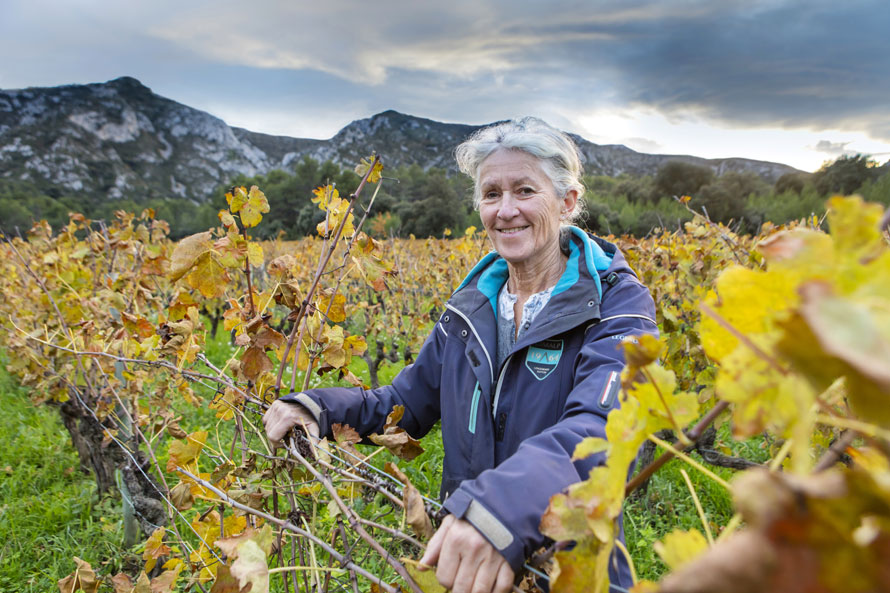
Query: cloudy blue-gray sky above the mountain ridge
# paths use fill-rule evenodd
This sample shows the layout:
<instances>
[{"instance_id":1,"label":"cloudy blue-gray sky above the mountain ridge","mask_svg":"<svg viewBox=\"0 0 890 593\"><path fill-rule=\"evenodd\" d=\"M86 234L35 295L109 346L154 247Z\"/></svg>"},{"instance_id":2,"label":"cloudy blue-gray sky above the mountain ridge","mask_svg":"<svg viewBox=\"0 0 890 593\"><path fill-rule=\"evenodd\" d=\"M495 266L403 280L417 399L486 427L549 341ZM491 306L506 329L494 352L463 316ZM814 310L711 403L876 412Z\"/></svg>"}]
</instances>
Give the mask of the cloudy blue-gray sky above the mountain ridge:
<instances>
[{"instance_id":1,"label":"cloudy blue-gray sky above the mountain ridge","mask_svg":"<svg viewBox=\"0 0 890 593\"><path fill-rule=\"evenodd\" d=\"M386 109L805 170L890 158L887 0L0 0L0 88L129 75L329 138Z\"/></svg>"}]
</instances>

